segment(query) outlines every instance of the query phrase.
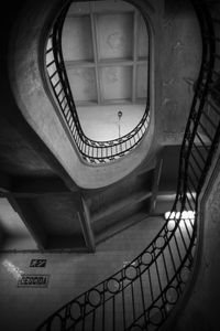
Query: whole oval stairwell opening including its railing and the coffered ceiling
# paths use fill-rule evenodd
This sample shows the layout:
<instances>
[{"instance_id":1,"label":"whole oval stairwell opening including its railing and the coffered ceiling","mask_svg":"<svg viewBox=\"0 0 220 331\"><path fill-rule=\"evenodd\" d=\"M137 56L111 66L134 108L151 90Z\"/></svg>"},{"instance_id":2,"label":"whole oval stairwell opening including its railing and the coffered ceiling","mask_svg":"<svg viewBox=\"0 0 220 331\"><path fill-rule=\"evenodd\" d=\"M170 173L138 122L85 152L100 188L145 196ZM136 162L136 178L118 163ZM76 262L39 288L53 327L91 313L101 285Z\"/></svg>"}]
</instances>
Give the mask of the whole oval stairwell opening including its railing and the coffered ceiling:
<instances>
[{"instance_id":1,"label":"whole oval stairwell opening including its railing and the coffered ceiling","mask_svg":"<svg viewBox=\"0 0 220 331\"><path fill-rule=\"evenodd\" d=\"M90 164L128 154L148 129L147 30L141 12L123 1L67 3L52 26L45 71L77 150Z\"/></svg>"}]
</instances>

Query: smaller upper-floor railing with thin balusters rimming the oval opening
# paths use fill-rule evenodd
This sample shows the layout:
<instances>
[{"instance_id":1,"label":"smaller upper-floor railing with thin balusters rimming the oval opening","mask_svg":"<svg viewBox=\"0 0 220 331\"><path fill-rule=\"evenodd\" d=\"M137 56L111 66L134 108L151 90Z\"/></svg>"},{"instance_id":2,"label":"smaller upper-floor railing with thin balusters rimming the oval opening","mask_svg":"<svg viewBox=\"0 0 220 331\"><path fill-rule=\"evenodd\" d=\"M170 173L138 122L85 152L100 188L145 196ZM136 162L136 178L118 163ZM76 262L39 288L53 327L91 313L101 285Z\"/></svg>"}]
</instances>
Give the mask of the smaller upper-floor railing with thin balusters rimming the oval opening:
<instances>
[{"instance_id":1,"label":"smaller upper-floor railing with thin balusters rimming the oval opening","mask_svg":"<svg viewBox=\"0 0 220 331\"><path fill-rule=\"evenodd\" d=\"M45 72L79 154L89 163L107 163L129 153L141 142L147 131L150 125L150 84L147 84L144 115L132 131L107 141L97 141L88 138L80 126L62 51L62 31L68 9L69 3L62 10L54 22L52 33L47 39Z\"/></svg>"}]
</instances>

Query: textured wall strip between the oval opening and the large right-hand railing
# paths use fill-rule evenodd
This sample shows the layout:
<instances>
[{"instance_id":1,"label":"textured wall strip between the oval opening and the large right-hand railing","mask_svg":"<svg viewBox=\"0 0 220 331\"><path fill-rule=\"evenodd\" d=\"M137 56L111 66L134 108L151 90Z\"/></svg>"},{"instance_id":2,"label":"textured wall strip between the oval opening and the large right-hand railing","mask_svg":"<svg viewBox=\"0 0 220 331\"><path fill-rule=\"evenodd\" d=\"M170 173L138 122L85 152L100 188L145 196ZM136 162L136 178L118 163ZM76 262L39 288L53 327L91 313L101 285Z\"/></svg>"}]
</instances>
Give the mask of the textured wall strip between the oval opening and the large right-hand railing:
<instances>
[{"instance_id":1,"label":"textured wall strip between the oval opening and the large right-hand railing","mask_svg":"<svg viewBox=\"0 0 220 331\"><path fill-rule=\"evenodd\" d=\"M185 131L200 60L201 40L189 1L166 0L163 17L162 128L164 143Z\"/></svg>"}]
</instances>

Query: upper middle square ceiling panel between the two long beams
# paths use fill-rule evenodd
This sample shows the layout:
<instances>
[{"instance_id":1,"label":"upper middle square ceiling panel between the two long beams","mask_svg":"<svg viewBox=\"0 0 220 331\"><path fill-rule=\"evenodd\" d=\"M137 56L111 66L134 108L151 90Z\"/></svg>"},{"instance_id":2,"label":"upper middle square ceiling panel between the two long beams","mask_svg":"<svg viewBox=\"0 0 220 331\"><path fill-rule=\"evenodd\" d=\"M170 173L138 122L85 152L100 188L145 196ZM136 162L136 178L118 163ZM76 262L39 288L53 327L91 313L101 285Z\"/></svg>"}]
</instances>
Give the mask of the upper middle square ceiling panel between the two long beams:
<instances>
[{"instance_id":1,"label":"upper middle square ceiling panel between the two long beams","mask_svg":"<svg viewBox=\"0 0 220 331\"><path fill-rule=\"evenodd\" d=\"M133 13L97 14L98 57L132 58Z\"/></svg>"}]
</instances>

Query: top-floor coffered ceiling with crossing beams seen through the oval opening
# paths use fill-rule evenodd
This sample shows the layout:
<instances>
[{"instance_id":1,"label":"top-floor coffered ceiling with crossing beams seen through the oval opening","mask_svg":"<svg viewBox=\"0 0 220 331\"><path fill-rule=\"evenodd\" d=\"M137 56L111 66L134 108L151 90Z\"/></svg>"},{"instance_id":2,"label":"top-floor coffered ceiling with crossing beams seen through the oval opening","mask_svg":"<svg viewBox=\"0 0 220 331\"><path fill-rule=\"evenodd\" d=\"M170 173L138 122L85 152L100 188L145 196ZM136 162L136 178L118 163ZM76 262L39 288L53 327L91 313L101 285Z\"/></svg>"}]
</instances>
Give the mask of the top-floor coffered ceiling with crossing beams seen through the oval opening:
<instances>
[{"instance_id":1,"label":"top-floor coffered ceiling with crossing beams seen through the oval opening","mask_svg":"<svg viewBox=\"0 0 220 331\"><path fill-rule=\"evenodd\" d=\"M77 106L146 104L148 35L133 6L74 2L62 42Z\"/></svg>"}]
</instances>

